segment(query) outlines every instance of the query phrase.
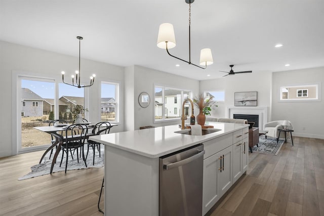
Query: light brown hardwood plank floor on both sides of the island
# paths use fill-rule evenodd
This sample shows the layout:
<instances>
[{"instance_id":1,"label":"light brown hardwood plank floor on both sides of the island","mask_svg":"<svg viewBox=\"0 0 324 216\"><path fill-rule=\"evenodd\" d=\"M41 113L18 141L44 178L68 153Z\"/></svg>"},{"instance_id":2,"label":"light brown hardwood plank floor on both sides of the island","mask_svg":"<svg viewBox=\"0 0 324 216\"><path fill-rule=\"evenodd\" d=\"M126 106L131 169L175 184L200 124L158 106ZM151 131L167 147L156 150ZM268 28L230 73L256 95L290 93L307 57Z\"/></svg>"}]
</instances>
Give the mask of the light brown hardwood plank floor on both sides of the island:
<instances>
[{"instance_id":1,"label":"light brown hardwood plank floor on both sides of the island","mask_svg":"<svg viewBox=\"0 0 324 216\"><path fill-rule=\"evenodd\" d=\"M0 215L102 215L103 168L17 180L43 152L0 158ZM324 216L324 140L294 137L278 155L249 156L247 175L209 215Z\"/></svg>"}]
</instances>

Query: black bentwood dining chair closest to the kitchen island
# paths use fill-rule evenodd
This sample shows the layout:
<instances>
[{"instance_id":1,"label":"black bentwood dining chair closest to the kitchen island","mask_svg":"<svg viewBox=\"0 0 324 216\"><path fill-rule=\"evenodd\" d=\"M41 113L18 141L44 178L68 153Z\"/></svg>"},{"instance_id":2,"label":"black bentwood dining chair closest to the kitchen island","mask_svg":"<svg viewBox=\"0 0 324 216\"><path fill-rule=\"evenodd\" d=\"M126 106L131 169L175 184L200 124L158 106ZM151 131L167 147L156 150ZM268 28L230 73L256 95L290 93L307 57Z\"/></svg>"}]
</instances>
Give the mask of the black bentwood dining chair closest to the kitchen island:
<instances>
[{"instance_id":1,"label":"black bentwood dining chair closest to the kitchen island","mask_svg":"<svg viewBox=\"0 0 324 216\"><path fill-rule=\"evenodd\" d=\"M92 136L94 136L94 135L102 135L102 134L109 134L110 127L111 127L111 124L108 121L98 122L98 123L95 124L94 128L92 129ZM91 147L92 150L93 150L93 165L95 165L95 150L96 150L96 147L97 147L97 149L99 151L99 157L101 157L101 155L100 155L100 144L101 143L95 142L93 140L88 140L88 150L87 150L86 159L88 158L89 148Z\"/></svg>"}]
</instances>

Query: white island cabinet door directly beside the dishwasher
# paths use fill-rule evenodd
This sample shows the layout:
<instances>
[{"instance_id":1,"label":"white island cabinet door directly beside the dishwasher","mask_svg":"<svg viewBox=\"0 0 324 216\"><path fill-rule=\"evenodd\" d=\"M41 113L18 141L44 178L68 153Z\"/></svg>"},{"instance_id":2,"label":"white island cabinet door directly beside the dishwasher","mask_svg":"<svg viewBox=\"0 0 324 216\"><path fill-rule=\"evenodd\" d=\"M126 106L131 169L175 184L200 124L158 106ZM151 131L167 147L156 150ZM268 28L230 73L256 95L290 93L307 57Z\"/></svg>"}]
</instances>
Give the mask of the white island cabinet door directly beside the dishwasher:
<instances>
[{"instance_id":1,"label":"white island cabinet door directly beside the dishwasher","mask_svg":"<svg viewBox=\"0 0 324 216\"><path fill-rule=\"evenodd\" d=\"M205 215L220 198L217 184L219 169L220 158L217 154L204 160L203 215Z\"/></svg>"}]
</instances>

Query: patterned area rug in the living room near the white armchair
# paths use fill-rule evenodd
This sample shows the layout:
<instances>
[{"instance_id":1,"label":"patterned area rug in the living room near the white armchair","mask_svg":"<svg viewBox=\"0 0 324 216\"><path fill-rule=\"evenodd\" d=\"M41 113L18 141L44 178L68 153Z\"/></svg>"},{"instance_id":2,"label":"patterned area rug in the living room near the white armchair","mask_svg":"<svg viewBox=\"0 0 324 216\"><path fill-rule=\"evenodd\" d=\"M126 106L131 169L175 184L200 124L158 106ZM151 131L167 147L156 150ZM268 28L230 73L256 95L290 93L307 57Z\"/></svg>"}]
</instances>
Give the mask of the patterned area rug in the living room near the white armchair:
<instances>
[{"instance_id":1,"label":"patterned area rug in the living room near the white armchair","mask_svg":"<svg viewBox=\"0 0 324 216\"><path fill-rule=\"evenodd\" d=\"M258 146L254 146L252 148L253 152L260 152L265 154L273 154L277 155L279 150L281 149L282 144L284 144L284 140L279 140L277 143L277 139L275 138L268 138L265 139L265 136L259 137L259 143Z\"/></svg>"}]
</instances>

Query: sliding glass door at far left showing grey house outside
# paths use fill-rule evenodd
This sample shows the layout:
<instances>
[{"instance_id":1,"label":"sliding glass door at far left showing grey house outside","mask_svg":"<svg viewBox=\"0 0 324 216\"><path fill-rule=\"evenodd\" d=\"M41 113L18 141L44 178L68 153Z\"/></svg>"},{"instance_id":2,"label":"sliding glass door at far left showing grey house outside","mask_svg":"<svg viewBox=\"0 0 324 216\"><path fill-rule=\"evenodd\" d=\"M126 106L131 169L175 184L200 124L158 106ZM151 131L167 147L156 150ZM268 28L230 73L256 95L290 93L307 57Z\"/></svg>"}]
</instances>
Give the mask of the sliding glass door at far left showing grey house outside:
<instances>
[{"instance_id":1,"label":"sliding glass door at far left showing grey house outside","mask_svg":"<svg viewBox=\"0 0 324 216\"><path fill-rule=\"evenodd\" d=\"M24 76L20 76L19 81L19 152L45 148L51 143L51 136L33 127L48 126L49 121L55 118L55 82L53 79Z\"/></svg>"}]
</instances>

